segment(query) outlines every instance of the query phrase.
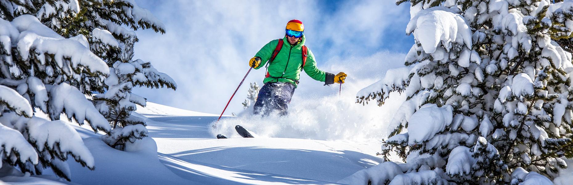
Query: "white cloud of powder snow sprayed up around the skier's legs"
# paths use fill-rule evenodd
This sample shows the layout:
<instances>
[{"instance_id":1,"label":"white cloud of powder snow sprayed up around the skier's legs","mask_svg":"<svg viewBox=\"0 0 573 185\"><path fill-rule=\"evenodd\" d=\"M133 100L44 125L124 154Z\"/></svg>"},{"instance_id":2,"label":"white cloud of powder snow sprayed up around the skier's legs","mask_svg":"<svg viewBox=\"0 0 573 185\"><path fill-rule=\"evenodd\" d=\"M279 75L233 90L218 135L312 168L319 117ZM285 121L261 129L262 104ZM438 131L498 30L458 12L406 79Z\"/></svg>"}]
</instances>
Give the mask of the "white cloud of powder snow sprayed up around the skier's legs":
<instances>
[{"instance_id":1,"label":"white cloud of powder snow sprayed up around the skier's legs","mask_svg":"<svg viewBox=\"0 0 573 185\"><path fill-rule=\"evenodd\" d=\"M394 129L388 123L395 123L392 119L398 111L391 105L401 104L405 97L395 93L393 96L397 98L387 101L390 106L378 107L375 104L356 104L352 94L293 100L296 104L289 105L288 115L284 117L272 114L266 117L248 115L221 119L210 127L211 136L240 137L234 127L241 125L261 137L353 141L380 141L386 137Z\"/></svg>"}]
</instances>

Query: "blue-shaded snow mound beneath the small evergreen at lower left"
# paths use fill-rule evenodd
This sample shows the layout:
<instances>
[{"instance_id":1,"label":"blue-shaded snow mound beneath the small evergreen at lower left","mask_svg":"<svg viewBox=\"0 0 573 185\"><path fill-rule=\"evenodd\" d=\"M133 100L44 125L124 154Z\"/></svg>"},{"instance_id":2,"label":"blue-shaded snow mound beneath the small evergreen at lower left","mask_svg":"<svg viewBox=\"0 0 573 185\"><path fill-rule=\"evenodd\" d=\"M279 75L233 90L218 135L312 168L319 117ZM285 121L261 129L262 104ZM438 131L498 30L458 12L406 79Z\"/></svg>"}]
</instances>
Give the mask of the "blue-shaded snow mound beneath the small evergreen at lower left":
<instances>
[{"instance_id":1,"label":"blue-shaded snow mound beneath the small evergreen at lower left","mask_svg":"<svg viewBox=\"0 0 573 185\"><path fill-rule=\"evenodd\" d=\"M159 162L157 152L147 149L155 148L155 141L150 137L142 140L134 152L124 152L109 147L97 137L88 137L84 143L95 159L93 171L77 163L68 163L72 171L72 182L80 184L193 184L173 174ZM125 178L125 177L131 178ZM103 178L105 177L105 178Z\"/></svg>"}]
</instances>

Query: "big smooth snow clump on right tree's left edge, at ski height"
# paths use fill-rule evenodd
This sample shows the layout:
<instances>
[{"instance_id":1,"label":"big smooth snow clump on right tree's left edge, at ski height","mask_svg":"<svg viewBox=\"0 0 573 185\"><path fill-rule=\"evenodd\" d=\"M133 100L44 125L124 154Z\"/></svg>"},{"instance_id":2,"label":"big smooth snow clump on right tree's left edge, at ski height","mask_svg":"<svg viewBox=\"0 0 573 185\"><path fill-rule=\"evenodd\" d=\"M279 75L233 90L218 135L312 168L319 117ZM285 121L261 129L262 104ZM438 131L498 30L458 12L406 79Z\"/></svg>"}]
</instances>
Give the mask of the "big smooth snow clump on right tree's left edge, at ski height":
<instances>
[{"instance_id":1,"label":"big smooth snow clump on right tree's left edge, at ski height","mask_svg":"<svg viewBox=\"0 0 573 185\"><path fill-rule=\"evenodd\" d=\"M436 133L444 131L452 123L453 108L450 105L438 107L425 104L410 117L408 122L408 144L414 145L431 139Z\"/></svg>"}]
</instances>

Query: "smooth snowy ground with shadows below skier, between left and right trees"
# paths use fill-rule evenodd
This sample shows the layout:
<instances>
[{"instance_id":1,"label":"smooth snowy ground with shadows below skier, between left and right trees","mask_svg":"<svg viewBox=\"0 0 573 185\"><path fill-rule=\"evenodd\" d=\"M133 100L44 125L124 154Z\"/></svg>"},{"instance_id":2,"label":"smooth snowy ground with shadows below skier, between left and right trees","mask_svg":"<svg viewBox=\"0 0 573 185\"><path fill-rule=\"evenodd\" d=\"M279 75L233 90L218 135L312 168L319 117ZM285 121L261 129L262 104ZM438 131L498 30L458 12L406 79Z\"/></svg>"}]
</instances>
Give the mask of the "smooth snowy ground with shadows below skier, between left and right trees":
<instances>
[{"instance_id":1,"label":"smooth snowy ground with shadows below skier, between left and right trees","mask_svg":"<svg viewBox=\"0 0 573 185\"><path fill-rule=\"evenodd\" d=\"M375 155L380 147L377 140L266 136L215 139L211 127L219 115L154 103L138 107L134 115L147 120L159 160L145 151L133 153L109 148L98 139L88 138L99 136L89 126L74 125L96 160L96 170L89 171L68 160L72 183L337 184L356 171L382 162ZM123 172L126 170L127 174ZM131 178L121 179L119 174Z\"/></svg>"}]
</instances>

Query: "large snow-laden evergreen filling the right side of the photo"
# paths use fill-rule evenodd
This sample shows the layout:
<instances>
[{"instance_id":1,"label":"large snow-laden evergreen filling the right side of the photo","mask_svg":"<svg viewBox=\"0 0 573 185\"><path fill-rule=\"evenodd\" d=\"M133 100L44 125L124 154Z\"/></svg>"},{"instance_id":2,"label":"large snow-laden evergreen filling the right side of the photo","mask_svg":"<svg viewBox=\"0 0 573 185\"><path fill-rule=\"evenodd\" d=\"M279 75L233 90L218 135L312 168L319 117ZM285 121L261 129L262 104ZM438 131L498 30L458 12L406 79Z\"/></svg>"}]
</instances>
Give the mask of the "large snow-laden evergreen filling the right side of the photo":
<instances>
[{"instance_id":1,"label":"large snow-laden evergreen filling the right side of the photo","mask_svg":"<svg viewBox=\"0 0 573 185\"><path fill-rule=\"evenodd\" d=\"M573 1L404 2L415 39L407 67L357 96L407 96L382 146L405 174L375 181L551 184L573 157L573 64L555 42L571 37Z\"/></svg>"}]
</instances>

